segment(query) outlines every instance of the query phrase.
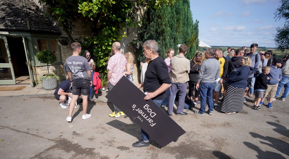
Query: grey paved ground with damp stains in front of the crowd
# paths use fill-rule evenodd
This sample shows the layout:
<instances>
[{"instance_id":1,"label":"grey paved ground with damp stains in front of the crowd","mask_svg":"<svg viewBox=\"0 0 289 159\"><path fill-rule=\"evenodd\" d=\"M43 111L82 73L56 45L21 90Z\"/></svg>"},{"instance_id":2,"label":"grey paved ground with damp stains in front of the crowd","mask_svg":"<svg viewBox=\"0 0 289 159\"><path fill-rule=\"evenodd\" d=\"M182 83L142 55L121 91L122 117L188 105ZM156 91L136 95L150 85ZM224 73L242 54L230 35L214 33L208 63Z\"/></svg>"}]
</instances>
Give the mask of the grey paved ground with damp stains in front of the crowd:
<instances>
[{"instance_id":1,"label":"grey paved ground with damp stains in front of the crowd","mask_svg":"<svg viewBox=\"0 0 289 159\"><path fill-rule=\"evenodd\" d=\"M204 117L194 115L197 105L185 110L188 116L173 114L186 131L179 141L162 148L151 139L150 147L134 148L140 128L127 116L110 118L113 105L104 95L89 102L91 118L82 120L80 107L68 123L68 109L53 92L34 87L0 94L1 158L289 158L288 99L253 110L253 98L246 97L240 113L226 115L218 108Z\"/></svg>"}]
</instances>

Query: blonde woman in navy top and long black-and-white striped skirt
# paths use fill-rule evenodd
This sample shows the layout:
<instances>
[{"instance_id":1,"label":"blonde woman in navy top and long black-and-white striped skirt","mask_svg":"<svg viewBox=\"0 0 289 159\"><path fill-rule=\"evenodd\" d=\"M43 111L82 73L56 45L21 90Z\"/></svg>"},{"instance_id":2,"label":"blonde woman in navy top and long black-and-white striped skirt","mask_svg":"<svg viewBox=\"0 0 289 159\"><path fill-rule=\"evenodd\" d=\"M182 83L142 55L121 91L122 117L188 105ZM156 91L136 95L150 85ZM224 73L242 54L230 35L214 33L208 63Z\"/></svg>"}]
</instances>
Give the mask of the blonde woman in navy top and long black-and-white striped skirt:
<instances>
[{"instance_id":1,"label":"blonde woman in navy top and long black-and-white striped skirt","mask_svg":"<svg viewBox=\"0 0 289 159\"><path fill-rule=\"evenodd\" d=\"M247 79L253 73L250 67L252 67L251 58L242 57L241 66L235 68L229 75L226 94L221 108L221 111L225 112L225 114L234 114L243 110Z\"/></svg>"}]
</instances>

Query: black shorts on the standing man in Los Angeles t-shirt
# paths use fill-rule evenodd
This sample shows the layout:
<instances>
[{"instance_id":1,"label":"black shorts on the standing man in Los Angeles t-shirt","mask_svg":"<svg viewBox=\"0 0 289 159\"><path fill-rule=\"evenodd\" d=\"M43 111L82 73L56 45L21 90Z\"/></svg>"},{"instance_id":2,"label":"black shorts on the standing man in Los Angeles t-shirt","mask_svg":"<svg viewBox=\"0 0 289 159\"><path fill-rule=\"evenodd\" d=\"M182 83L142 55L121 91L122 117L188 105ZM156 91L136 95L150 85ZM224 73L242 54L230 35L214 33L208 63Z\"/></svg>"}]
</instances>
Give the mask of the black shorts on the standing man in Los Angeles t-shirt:
<instances>
[{"instance_id":1,"label":"black shorts on the standing man in Los Angeles t-shirt","mask_svg":"<svg viewBox=\"0 0 289 159\"><path fill-rule=\"evenodd\" d=\"M89 95L90 82L88 79L74 79L72 83L72 95Z\"/></svg>"}]
</instances>

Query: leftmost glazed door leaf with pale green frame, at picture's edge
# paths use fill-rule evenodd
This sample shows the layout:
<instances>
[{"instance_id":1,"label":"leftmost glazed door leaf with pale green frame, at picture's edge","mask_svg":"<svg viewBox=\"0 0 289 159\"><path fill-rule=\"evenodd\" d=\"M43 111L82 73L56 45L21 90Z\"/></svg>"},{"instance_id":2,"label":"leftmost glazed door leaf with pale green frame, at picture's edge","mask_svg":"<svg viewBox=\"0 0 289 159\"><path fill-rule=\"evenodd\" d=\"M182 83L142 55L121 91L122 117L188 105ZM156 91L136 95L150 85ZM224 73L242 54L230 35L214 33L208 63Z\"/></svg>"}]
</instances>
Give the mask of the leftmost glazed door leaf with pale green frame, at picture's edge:
<instances>
[{"instance_id":1,"label":"leftmost glazed door leaf with pale green frame, at picture's edge","mask_svg":"<svg viewBox=\"0 0 289 159\"><path fill-rule=\"evenodd\" d=\"M7 39L0 35L0 84L16 84Z\"/></svg>"}]
</instances>

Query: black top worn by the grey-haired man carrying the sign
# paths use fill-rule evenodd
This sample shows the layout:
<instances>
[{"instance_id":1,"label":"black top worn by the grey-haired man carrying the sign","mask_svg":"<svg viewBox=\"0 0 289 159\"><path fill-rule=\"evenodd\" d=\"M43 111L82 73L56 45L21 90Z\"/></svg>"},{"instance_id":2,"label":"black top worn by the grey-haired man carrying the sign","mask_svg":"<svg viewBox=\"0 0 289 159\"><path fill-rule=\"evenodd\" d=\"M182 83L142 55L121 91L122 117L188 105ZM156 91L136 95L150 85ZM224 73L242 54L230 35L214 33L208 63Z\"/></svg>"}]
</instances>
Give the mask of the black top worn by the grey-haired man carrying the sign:
<instances>
[{"instance_id":1,"label":"black top worn by the grey-haired man carrying the sign","mask_svg":"<svg viewBox=\"0 0 289 159\"><path fill-rule=\"evenodd\" d=\"M148 63L148 68L144 74L144 91L148 93L154 92L160 88L163 83L171 84L171 78L169 77L168 67L165 61L158 56ZM164 98L165 91L154 97L154 99Z\"/></svg>"}]
</instances>

